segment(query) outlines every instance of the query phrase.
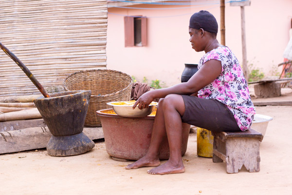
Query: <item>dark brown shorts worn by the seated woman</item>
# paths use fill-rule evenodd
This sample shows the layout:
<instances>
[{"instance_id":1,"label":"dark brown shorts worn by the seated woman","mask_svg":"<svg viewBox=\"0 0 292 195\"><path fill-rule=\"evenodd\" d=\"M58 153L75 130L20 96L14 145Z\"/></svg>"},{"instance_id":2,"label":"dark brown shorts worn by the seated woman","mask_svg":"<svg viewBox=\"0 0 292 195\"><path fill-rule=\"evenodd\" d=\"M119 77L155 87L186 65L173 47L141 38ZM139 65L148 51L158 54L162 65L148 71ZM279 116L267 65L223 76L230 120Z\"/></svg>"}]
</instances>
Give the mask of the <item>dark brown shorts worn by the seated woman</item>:
<instances>
[{"instance_id":1,"label":"dark brown shorts worn by the seated woman","mask_svg":"<svg viewBox=\"0 0 292 195\"><path fill-rule=\"evenodd\" d=\"M241 131L232 112L216 99L182 95L185 112L182 121L214 132Z\"/></svg>"}]
</instances>

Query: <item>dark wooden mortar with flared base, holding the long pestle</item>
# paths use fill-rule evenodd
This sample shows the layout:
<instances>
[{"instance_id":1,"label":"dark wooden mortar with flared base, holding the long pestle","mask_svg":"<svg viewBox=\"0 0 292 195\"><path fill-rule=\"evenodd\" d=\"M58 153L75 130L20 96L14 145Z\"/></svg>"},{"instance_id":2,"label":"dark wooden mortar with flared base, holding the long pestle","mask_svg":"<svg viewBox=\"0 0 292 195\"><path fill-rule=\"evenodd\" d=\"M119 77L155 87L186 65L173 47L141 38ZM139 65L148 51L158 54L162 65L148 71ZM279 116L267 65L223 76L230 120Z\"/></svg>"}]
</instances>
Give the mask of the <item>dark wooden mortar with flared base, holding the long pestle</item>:
<instances>
[{"instance_id":1,"label":"dark wooden mortar with flared base, holding the long pestle","mask_svg":"<svg viewBox=\"0 0 292 195\"><path fill-rule=\"evenodd\" d=\"M67 91L34 100L52 137L50 156L72 156L90 151L94 142L83 133L91 91Z\"/></svg>"}]
</instances>

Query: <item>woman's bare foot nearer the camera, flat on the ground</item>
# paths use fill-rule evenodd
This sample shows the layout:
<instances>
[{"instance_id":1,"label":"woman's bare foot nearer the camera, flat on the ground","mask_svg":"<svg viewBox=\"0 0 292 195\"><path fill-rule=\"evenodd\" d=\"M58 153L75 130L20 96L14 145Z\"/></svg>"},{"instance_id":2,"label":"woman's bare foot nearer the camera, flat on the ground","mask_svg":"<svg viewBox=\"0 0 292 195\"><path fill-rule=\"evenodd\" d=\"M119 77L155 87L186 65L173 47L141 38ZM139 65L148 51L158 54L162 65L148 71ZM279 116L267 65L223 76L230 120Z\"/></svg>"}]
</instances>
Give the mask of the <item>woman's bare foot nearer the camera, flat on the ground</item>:
<instances>
[{"instance_id":1,"label":"woman's bare foot nearer the camera, flat on the ground","mask_svg":"<svg viewBox=\"0 0 292 195\"><path fill-rule=\"evenodd\" d=\"M171 162L167 161L159 167L148 170L148 174L152 175L164 175L164 174L180 174L184 173L185 169L182 164L173 165Z\"/></svg>"}]
</instances>

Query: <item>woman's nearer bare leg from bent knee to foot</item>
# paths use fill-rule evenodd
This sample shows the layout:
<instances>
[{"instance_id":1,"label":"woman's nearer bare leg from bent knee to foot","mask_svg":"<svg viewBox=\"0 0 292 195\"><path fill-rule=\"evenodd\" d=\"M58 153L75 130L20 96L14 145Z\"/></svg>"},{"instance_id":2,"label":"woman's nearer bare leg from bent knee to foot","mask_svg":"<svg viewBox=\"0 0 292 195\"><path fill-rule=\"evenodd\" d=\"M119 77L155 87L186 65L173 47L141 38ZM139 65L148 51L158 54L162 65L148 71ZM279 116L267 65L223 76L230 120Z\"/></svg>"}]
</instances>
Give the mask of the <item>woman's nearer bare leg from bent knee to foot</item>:
<instances>
[{"instance_id":1,"label":"woman's nearer bare leg from bent knee to foot","mask_svg":"<svg viewBox=\"0 0 292 195\"><path fill-rule=\"evenodd\" d=\"M149 170L148 174L175 174L183 173L182 160L182 116L185 111L182 96L172 94L164 98L163 112L167 139L170 149L170 157L167 162L159 167Z\"/></svg>"}]
</instances>

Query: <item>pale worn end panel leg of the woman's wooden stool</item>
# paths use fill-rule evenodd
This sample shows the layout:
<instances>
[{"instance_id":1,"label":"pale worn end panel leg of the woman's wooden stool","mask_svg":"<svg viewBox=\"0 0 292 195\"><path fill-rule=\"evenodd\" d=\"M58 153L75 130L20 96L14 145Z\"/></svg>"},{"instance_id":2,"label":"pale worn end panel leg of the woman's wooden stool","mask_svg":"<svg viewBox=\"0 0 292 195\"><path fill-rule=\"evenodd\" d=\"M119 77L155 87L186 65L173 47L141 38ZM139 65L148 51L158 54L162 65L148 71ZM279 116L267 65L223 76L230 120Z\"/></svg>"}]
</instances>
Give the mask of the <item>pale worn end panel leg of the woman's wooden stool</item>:
<instances>
[{"instance_id":1,"label":"pale worn end panel leg of the woman's wooden stool","mask_svg":"<svg viewBox=\"0 0 292 195\"><path fill-rule=\"evenodd\" d=\"M249 172L259 172L259 141L257 138L228 138L226 140L226 172L238 173L244 166Z\"/></svg>"}]
</instances>

